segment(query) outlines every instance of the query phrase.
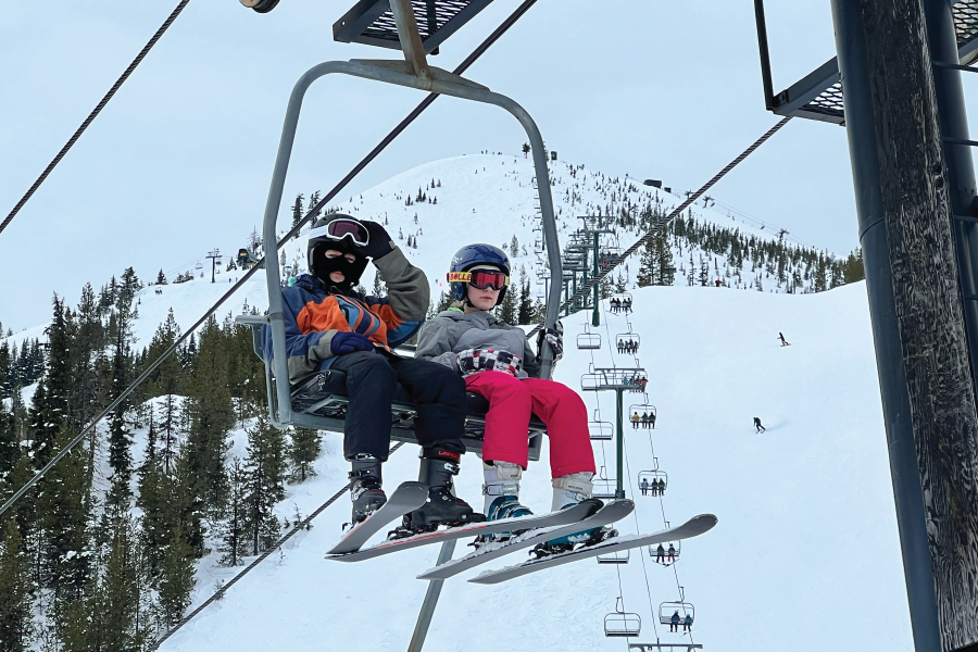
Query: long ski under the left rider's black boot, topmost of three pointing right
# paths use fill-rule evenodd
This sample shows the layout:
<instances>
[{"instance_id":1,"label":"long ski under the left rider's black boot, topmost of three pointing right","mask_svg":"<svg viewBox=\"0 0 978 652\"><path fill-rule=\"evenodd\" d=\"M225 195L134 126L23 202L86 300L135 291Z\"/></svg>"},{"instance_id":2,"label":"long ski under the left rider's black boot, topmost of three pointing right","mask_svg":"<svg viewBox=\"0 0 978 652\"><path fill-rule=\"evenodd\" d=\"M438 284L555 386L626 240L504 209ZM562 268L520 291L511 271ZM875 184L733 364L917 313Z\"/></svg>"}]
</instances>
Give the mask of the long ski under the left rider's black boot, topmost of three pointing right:
<instances>
[{"instance_id":1,"label":"long ski under the left rider's black boot, topmost of three pointing right","mask_svg":"<svg viewBox=\"0 0 978 652\"><path fill-rule=\"evenodd\" d=\"M401 550L427 546L429 543L441 543L442 541L461 539L463 537L476 537L478 535L489 535L509 530L569 525L572 523L577 523L582 518L587 518L589 515L600 510L603 504L604 503L597 498L589 498L573 507L561 510L560 512L551 512L549 514L541 514L540 516L521 516L514 518L501 518L499 521L484 521L481 523L472 523L469 525L451 527L434 532L422 532L402 539L388 539L387 541L372 546L371 548L364 548L348 553L337 554L330 551L330 554L327 555L326 559L338 562L362 562L391 552L399 552Z\"/></svg>"}]
</instances>

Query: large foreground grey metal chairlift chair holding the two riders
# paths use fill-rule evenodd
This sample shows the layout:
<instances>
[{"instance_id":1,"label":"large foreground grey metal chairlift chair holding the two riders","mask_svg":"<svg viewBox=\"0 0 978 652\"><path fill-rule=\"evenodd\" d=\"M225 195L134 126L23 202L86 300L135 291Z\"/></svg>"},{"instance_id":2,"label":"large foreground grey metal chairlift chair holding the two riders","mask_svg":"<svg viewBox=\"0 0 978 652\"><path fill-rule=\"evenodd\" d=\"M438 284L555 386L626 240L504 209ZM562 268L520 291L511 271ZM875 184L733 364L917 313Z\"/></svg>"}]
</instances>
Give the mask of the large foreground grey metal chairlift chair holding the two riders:
<instances>
[{"instance_id":1,"label":"large foreground grey metal chairlift chair holding the two riders","mask_svg":"<svg viewBox=\"0 0 978 652\"><path fill-rule=\"evenodd\" d=\"M534 156L534 174L541 178L549 178L543 139L530 115L505 96L492 92L485 86L469 82L460 75L428 65L425 59L425 47L419 41L412 2L410 0L391 0L390 11L397 23L399 40L404 53L403 61L351 60L321 63L310 68L292 89L286 111L285 125L279 141L268 199L265 203L263 242L265 246L265 258L269 261L278 261L279 256L276 221L281 212L286 174L294 145L303 98L309 87L316 79L328 74L349 75L499 106L512 114L526 131ZM538 186L540 217L544 239L548 244L547 258L551 272L556 275L556 278L561 278L561 254L551 188L550 184ZM200 269L202 265L198 263L197 268ZM279 429L293 425L304 428L341 431L348 403L346 375L342 372L334 369L319 372L296 386L291 386L288 381L278 381L278 379L289 377L279 266L277 264L266 265L265 275L268 288L268 314L264 316L239 315L236 317L236 322L252 328L254 351L265 363L266 396L272 424ZM557 319L560 291L559 285L550 288L547 297L547 317L544 319L547 326L553 326ZM265 360L262 354L261 338L263 328L271 330L273 344L271 360ZM399 353L404 351L405 349L398 349ZM544 344L540 359L540 377L549 379L552 366L552 351L549 346ZM403 387L397 388L393 403L391 439L416 442L414 437L416 411ZM468 450L481 451L487 410L488 402L485 399L476 394L468 394L468 416L466 417L465 436L463 437L463 441ZM543 431L544 426L542 422L534 417L528 429L531 460L539 460Z\"/></svg>"}]
</instances>

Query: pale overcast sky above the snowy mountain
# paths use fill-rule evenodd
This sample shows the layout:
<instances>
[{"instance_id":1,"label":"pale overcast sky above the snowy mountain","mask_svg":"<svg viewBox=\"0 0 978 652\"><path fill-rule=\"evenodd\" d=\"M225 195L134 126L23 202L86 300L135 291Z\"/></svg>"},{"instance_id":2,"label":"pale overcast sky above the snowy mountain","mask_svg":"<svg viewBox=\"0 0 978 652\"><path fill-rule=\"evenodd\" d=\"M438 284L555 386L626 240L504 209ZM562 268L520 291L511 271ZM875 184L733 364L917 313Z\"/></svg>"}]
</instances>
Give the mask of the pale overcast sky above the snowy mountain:
<instances>
[{"instance_id":1,"label":"pale overcast sky above the snowy mountain","mask_svg":"<svg viewBox=\"0 0 978 652\"><path fill-rule=\"evenodd\" d=\"M214 247L243 246L261 222L296 79L322 61L398 55L333 41L333 23L353 1L281 0L256 14L237 0L192 0L0 234L4 328L45 322L52 293L74 304L85 281L98 287L128 265L151 280ZM496 0L432 64L453 68L517 4ZM7 3L0 217L175 5ZM775 90L833 55L828 0L768 0L767 13ZM776 122L764 110L747 0L539 0L467 76L522 103L562 160L678 189L699 187ZM318 82L286 200L331 188L422 97ZM341 197L434 159L515 153L524 140L500 110L441 98ZM711 195L807 244L840 254L857 244L841 127L792 121Z\"/></svg>"}]
</instances>

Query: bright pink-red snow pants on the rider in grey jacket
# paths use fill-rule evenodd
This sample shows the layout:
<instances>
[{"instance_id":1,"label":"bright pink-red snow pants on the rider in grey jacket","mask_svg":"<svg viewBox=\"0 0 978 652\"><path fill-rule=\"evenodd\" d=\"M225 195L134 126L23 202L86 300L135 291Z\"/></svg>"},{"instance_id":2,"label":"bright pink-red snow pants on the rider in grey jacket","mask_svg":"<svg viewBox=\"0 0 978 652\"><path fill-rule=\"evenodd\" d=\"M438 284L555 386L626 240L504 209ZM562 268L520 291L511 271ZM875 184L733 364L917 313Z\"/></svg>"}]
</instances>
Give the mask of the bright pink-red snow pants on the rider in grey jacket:
<instances>
[{"instance_id":1,"label":"bright pink-red snow pants on the rider in grey jacket","mask_svg":"<svg viewBox=\"0 0 978 652\"><path fill-rule=\"evenodd\" d=\"M594 451L588 434L588 409L577 392L553 380L519 380L502 372L479 372L465 379L468 391L489 401L482 459L528 464L530 413L547 424L550 473L594 473Z\"/></svg>"}]
</instances>

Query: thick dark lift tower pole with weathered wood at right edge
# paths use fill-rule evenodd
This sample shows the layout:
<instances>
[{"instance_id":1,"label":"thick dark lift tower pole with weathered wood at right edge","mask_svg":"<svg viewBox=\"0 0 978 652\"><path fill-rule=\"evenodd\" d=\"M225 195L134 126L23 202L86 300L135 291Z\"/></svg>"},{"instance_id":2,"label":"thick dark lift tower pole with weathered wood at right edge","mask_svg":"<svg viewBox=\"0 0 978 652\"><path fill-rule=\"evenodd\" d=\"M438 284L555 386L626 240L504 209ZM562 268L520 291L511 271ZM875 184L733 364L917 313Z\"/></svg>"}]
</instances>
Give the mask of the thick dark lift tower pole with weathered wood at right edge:
<instances>
[{"instance_id":1,"label":"thick dark lift tower pole with weathered wood at right edge","mask_svg":"<svg viewBox=\"0 0 978 652\"><path fill-rule=\"evenodd\" d=\"M950 133L966 128L964 111L949 105L952 71L931 65L953 39L935 23L950 10L946 0L831 4L915 648L973 650L978 413L952 206L974 173L945 155L942 130L965 138Z\"/></svg>"}]
</instances>

